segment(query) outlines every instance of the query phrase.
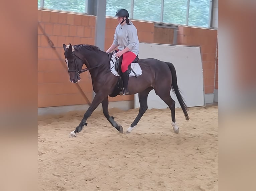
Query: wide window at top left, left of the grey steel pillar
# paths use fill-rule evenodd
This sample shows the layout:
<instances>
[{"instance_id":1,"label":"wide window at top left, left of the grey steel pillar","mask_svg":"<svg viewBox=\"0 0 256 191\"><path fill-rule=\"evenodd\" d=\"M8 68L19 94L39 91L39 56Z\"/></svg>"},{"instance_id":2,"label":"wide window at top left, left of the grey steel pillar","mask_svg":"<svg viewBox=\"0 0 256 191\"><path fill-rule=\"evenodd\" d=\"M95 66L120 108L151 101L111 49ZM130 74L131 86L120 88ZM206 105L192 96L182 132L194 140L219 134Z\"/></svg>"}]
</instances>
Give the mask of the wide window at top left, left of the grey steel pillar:
<instances>
[{"instance_id":1,"label":"wide window at top left, left of the grey steel pillar","mask_svg":"<svg viewBox=\"0 0 256 191\"><path fill-rule=\"evenodd\" d=\"M85 0L43 0L43 8L85 13Z\"/></svg>"}]
</instances>

